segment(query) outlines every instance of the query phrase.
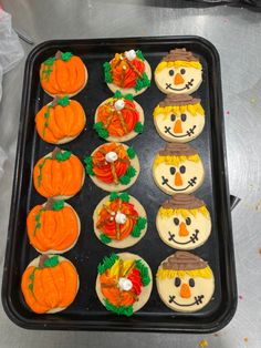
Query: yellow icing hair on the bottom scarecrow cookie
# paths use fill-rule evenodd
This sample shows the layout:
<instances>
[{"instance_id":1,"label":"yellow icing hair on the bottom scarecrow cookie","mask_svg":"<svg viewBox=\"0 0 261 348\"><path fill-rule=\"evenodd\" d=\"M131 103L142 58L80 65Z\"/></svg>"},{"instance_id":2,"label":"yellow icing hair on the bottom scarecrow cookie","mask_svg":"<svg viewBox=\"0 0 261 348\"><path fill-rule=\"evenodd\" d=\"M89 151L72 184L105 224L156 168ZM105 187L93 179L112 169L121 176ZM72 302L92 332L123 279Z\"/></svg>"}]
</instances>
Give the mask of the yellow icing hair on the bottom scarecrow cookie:
<instances>
[{"instance_id":1,"label":"yellow icing hair on the bottom scarecrow cookie","mask_svg":"<svg viewBox=\"0 0 261 348\"><path fill-rule=\"evenodd\" d=\"M212 270L210 269L209 266L206 268L200 268L200 269L190 269L190 270L178 270L178 269L163 269L159 268L157 272L156 277L158 279L166 279L166 278L175 278L175 277L180 277L184 278L186 275L195 278L195 277L201 277L201 278L212 278Z\"/></svg>"}]
</instances>

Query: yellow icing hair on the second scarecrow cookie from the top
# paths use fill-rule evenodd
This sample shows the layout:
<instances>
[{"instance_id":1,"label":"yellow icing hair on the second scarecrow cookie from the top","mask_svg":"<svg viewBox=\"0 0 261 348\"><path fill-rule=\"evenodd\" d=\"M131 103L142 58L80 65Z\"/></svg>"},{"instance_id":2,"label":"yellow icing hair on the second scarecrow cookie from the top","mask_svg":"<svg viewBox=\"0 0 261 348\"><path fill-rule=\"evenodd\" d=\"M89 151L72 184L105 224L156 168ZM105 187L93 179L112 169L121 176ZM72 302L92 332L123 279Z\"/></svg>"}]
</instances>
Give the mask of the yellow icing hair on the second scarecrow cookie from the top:
<instances>
[{"instance_id":1,"label":"yellow icing hair on the second scarecrow cookie from the top","mask_svg":"<svg viewBox=\"0 0 261 348\"><path fill-rule=\"evenodd\" d=\"M164 114L165 119L168 116L169 113L174 113L177 116L180 116L182 113L189 112L192 116L200 114L205 116L205 110L200 103L197 104L188 104L188 105L176 105L176 106L156 106L154 109L154 117L157 117L159 114Z\"/></svg>"}]
</instances>

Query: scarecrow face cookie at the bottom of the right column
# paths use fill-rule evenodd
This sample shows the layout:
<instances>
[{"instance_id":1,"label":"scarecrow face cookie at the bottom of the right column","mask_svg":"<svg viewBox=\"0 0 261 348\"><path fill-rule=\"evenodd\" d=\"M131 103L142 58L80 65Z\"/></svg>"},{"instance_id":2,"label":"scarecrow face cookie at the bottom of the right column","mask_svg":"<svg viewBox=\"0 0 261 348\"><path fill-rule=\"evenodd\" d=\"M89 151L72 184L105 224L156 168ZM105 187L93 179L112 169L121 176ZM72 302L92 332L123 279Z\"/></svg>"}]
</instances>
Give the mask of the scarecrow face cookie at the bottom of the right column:
<instances>
[{"instance_id":1,"label":"scarecrow face cookie at the bottom of the right column","mask_svg":"<svg viewBox=\"0 0 261 348\"><path fill-rule=\"evenodd\" d=\"M211 299L215 278L208 264L188 252L176 252L158 267L158 294L176 311L197 311Z\"/></svg>"}]
</instances>

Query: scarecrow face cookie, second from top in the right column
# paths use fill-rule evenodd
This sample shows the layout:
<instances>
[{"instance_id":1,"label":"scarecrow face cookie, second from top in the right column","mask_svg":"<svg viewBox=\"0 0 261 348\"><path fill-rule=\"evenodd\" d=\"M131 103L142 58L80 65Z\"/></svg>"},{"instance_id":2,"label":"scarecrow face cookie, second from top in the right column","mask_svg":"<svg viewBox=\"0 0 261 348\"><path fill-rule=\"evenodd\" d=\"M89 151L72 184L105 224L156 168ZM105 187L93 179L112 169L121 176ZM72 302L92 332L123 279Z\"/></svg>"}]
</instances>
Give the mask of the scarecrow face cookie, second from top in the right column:
<instances>
[{"instance_id":1,"label":"scarecrow face cookie, second from top in the right column","mask_svg":"<svg viewBox=\"0 0 261 348\"><path fill-rule=\"evenodd\" d=\"M154 110L154 124L167 142L190 142L202 132L205 125L200 99L188 94L168 94Z\"/></svg>"}]
</instances>

